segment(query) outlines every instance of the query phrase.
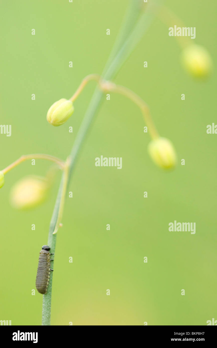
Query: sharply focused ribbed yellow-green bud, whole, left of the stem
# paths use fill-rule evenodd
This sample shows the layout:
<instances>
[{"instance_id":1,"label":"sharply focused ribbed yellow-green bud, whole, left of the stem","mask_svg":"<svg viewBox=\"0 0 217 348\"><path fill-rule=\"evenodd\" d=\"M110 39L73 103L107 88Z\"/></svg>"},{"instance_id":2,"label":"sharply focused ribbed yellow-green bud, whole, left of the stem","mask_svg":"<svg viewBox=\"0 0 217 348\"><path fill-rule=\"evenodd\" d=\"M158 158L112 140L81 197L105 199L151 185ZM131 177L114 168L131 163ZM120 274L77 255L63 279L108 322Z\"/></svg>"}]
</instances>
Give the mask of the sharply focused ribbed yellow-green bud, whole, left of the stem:
<instances>
[{"instance_id":1,"label":"sharply focused ribbed yellow-green bud, whole, left of the stem","mask_svg":"<svg viewBox=\"0 0 217 348\"><path fill-rule=\"evenodd\" d=\"M51 105L47 111L47 121L53 126L60 126L68 120L73 111L74 106L72 102L62 98Z\"/></svg>"}]
</instances>

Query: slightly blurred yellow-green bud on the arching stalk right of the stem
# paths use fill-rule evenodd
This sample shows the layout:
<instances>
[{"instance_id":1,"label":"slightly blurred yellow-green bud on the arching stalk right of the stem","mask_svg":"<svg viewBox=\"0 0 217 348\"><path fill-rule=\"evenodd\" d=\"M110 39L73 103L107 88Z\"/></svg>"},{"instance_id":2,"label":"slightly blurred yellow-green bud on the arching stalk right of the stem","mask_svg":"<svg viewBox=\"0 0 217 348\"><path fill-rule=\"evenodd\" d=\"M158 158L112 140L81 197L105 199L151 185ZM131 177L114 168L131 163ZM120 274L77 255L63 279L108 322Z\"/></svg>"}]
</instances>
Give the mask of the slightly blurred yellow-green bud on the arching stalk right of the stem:
<instances>
[{"instance_id":1,"label":"slightly blurred yellow-green bud on the arching stalk right of the stem","mask_svg":"<svg viewBox=\"0 0 217 348\"><path fill-rule=\"evenodd\" d=\"M163 169L172 169L176 165L176 153L169 139L157 138L148 145L148 153L155 164Z\"/></svg>"}]
</instances>

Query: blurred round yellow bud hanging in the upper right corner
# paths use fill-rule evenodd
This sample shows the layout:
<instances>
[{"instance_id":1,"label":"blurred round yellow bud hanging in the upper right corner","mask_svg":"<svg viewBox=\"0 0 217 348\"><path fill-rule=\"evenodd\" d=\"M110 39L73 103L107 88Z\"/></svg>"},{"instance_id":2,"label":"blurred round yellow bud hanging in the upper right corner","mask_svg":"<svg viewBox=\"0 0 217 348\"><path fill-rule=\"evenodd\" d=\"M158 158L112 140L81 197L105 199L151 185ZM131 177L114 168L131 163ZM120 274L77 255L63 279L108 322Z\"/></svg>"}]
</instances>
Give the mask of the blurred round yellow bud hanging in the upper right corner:
<instances>
[{"instance_id":1,"label":"blurred round yellow bud hanging in the upper right corner","mask_svg":"<svg viewBox=\"0 0 217 348\"><path fill-rule=\"evenodd\" d=\"M212 70L212 58L206 48L192 44L186 47L181 56L185 70L198 78L204 78Z\"/></svg>"}]
</instances>

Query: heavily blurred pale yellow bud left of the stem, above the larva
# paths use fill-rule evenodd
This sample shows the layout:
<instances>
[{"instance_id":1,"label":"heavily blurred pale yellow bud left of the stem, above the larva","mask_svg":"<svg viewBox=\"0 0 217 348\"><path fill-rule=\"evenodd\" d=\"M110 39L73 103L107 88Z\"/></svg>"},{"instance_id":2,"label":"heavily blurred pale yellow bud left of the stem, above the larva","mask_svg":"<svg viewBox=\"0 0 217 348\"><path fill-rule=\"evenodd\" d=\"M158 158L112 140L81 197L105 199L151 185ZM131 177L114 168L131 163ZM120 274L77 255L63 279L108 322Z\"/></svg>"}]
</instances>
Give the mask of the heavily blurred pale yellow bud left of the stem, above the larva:
<instances>
[{"instance_id":1,"label":"heavily blurred pale yellow bud left of the stem, above the larva","mask_svg":"<svg viewBox=\"0 0 217 348\"><path fill-rule=\"evenodd\" d=\"M46 178L26 176L12 187L10 203L17 209L33 208L44 201L48 188Z\"/></svg>"}]
</instances>

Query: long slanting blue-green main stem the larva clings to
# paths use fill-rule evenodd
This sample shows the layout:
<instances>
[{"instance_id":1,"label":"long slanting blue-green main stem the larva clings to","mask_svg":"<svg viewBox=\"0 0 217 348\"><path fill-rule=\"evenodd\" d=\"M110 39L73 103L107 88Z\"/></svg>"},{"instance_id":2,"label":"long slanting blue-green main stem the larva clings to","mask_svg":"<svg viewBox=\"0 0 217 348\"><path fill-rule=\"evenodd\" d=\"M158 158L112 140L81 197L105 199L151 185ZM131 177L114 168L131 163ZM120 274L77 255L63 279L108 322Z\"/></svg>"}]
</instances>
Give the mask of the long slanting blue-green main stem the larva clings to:
<instances>
[{"instance_id":1,"label":"long slanting blue-green main stem the larva clings to","mask_svg":"<svg viewBox=\"0 0 217 348\"><path fill-rule=\"evenodd\" d=\"M119 34L119 37L117 39L117 43L114 46L114 49L112 50L112 54L109 57L108 62L106 63L104 72L102 74L103 78L105 79L111 79L115 76L115 74L119 71L121 68L121 65L124 63L125 59L129 56L129 54L132 52L133 48L136 46L136 44L141 39L142 35L144 34L145 30L148 28L148 26L151 23L151 19L153 18L153 13L149 11L147 8L146 12L141 16L138 24L136 25L135 29L132 31L137 18L139 16L139 13L142 10L142 3L141 0L131 0L130 4L130 10L128 11L128 15L126 17L126 22L123 25L123 29L121 30L121 33ZM149 6L151 9L151 6ZM145 23L143 23L145 22ZM139 30L142 30L142 33L139 32ZM130 38L125 41L127 35L130 33ZM136 37L138 35L138 37ZM134 44L134 41L136 42ZM121 49L119 47L122 45ZM69 180L72 174L73 169L75 168L76 160L78 158L78 153L81 150L81 145L84 143L84 139L86 137L86 134L88 132L88 129L90 125L92 124L93 118L102 102L102 96L103 93L98 88L95 89L93 97L89 103L88 109L86 111L86 114L84 116L84 119L81 123L81 126L79 128L78 134L76 136L75 142L73 144L71 154L70 154L70 163L69 163L69 175L68 175L68 184ZM60 208L60 201L62 197L62 190L63 190L63 183L64 183L64 173L62 175L62 180L60 183L58 196L56 199L50 229L49 229L49 237L48 237L48 245L51 247L51 252L55 252L55 244L56 244L56 238L57 235L53 234L57 219L58 219L58 213ZM67 184L67 185L68 185ZM50 317L51 317L51 292L52 292L52 277L53 272L51 272L50 276L50 282L49 286L47 288L47 293L43 295L43 304L42 304L42 325L50 325Z\"/></svg>"}]
</instances>

